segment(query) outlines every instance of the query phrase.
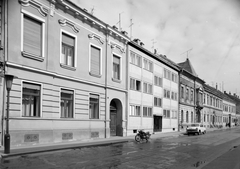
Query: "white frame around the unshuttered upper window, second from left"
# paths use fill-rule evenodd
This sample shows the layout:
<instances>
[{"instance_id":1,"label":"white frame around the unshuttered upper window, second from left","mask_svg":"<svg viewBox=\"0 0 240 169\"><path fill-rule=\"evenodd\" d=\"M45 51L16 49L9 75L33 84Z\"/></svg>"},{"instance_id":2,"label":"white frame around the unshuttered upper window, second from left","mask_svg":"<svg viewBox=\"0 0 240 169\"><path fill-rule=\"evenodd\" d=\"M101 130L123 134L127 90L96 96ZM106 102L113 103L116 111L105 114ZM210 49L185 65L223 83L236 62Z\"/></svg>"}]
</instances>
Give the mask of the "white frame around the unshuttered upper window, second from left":
<instances>
[{"instance_id":1,"label":"white frame around the unshuttered upper window, second from left","mask_svg":"<svg viewBox=\"0 0 240 169\"><path fill-rule=\"evenodd\" d=\"M68 65L65 65L65 64L62 64L61 63L61 55L62 55L62 34L65 33L73 38L75 38L75 44L74 44L74 67L71 67L71 66L68 66ZM69 70L76 70L77 68L77 36L68 32L68 31L65 31L63 29L60 30L60 48L59 48L59 63L60 63L60 66L62 68L65 68L65 69L69 69Z\"/></svg>"}]
</instances>

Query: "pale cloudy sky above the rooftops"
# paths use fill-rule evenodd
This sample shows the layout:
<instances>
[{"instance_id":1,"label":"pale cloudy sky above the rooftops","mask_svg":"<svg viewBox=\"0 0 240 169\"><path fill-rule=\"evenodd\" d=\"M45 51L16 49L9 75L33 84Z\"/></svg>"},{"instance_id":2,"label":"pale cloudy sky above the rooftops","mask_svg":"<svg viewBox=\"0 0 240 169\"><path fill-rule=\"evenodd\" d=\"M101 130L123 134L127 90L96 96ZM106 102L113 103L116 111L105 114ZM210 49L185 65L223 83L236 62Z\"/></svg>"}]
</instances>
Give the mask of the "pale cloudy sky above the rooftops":
<instances>
[{"instance_id":1,"label":"pale cloudy sky above the rooftops","mask_svg":"<svg viewBox=\"0 0 240 169\"><path fill-rule=\"evenodd\" d=\"M210 86L240 96L240 0L72 0ZM121 19L119 19L119 16ZM132 34L130 25L132 19Z\"/></svg>"}]
</instances>

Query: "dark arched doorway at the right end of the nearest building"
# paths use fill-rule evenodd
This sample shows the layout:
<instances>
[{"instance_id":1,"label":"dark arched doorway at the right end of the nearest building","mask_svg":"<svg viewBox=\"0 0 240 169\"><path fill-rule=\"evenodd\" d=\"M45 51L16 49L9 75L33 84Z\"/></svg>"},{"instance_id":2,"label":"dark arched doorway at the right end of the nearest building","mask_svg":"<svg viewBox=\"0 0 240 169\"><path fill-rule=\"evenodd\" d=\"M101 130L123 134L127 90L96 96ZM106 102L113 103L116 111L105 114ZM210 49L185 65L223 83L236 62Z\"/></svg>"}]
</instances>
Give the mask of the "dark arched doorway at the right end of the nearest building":
<instances>
[{"instance_id":1,"label":"dark arched doorway at the right end of the nearest building","mask_svg":"<svg viewBox=\"0 0 240 169\"><path fill-rule=\"evenodd\" d=\"M122 103L118 99L110 102L110 135L123 136Z\"/></svg>"}]
</instances>

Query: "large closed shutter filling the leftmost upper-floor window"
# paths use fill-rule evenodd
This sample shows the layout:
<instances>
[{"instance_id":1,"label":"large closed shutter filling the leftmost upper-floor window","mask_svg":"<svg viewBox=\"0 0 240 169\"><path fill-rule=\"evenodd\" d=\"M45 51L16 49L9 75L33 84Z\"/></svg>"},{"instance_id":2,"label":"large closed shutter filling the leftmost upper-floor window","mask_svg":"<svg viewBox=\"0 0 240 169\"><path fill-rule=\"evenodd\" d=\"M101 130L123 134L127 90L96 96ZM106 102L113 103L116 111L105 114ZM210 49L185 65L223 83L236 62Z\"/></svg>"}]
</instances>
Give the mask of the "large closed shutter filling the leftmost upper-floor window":
<instances>
[{"instance_id":1,"label":"large closed shutter filling the leftmost upper-floor window","mask_svg":"<svg viewBox=\"0 0 240 169\"><path fill-rule=\"evenodd\" d=\"M23 50L42 56L42 22L24 15Z\"/></svg>"}]
</instances>

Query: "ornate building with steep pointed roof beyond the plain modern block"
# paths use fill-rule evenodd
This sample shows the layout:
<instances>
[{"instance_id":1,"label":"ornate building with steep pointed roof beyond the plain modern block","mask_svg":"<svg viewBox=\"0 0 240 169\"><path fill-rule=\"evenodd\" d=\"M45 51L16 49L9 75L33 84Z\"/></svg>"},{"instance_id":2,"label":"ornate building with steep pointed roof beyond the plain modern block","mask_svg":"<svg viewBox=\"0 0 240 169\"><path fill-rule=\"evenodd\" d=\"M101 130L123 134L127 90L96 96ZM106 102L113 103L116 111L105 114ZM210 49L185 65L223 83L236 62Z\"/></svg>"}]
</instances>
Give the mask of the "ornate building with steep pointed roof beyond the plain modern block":
<instances>
[{"instance_id":1,"label":"ornate building with steep pointed roof beyond the plain modern block","mask_svg":"<svg viewBox=\"0 0 240 169\"><path fill-rule=\"evenodd\" d=\"M198 77L188 58L178 65L181 67L179 124L181 128L185 128L192 123L203 122L203 84L205 82Z\"/></svg>"}]
</instances>

